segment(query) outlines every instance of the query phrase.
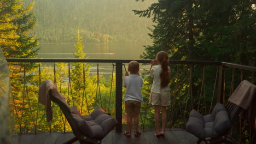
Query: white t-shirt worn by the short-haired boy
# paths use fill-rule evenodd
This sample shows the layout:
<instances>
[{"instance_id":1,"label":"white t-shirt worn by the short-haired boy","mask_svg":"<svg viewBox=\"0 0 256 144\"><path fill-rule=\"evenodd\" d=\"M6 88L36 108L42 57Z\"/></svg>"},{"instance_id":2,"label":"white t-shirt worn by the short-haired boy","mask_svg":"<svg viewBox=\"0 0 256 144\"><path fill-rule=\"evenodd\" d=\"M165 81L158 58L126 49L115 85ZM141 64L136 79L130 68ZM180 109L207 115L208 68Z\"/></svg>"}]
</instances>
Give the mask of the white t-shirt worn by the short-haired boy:
<instances>
[{"instance_id":1,"label":"white t-shirt worn by the short-haired boy","mask_svg":"<svg viewBox=\"0 0 256 144\"><path fill-rule=\"evenodd\" d=\"M143 85L142 77L136 74L131 74L129 76L125 76L124 86L126 87L125 92L125 101L127 100L135 100L139 102L143 102L143 97L141 94L141 86Z\"/></svg>"}]
</instances>

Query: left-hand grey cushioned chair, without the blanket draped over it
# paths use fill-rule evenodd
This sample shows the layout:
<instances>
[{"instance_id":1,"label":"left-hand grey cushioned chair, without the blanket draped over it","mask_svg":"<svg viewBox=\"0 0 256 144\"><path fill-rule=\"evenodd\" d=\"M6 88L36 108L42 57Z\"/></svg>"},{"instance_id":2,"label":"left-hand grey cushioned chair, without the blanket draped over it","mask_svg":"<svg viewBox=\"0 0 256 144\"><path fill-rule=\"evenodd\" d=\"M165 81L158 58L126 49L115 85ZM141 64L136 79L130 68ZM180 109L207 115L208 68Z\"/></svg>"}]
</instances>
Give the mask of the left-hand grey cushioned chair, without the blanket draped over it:
<instances>
[{"instance_id":1,"label":"left-hand grey cushioned chair, without the blanket draped over it","mask_svg":"<svg viewBox=\"0 0 256 144\"><path fill-rule=\"evenodd\" d=\"M100 107L97 107L90 115L81 115L77 107L70 107L49 92L51 101L60 106L75 137L65 143L101 143L101 140L117 125L117 119L109 116Z\"/></svg>"}]
</instances>

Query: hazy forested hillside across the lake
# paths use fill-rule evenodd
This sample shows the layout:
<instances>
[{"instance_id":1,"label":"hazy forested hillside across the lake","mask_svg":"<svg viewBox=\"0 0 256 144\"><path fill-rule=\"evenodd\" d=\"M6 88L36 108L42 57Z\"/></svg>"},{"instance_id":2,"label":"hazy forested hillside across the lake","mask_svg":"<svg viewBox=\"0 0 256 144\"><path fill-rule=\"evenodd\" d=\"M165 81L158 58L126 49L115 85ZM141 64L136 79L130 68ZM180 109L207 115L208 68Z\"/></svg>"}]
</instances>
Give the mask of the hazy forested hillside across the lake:
<instances>
[{"instance_id":1,"label":"hazy forested hillside across the lake","mask_svg":"<svg viewBox=\"0 0 256 144\"><path fill-rule=\"evenodd\" d=\"M31 3L33 0L25 0ZM132 9L146 9L156 0L35 0L40 43L74 43L78 25L85 43L148 43L150 19Z\"/></svg>"}]
</instances>

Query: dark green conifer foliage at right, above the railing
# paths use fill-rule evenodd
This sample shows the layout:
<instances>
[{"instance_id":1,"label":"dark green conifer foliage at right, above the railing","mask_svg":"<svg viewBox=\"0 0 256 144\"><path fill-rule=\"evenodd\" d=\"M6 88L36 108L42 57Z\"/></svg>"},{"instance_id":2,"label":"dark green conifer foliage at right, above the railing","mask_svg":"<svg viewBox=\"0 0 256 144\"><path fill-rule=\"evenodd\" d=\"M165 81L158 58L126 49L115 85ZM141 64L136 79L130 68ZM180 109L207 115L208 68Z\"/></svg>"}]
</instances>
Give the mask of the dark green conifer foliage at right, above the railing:
<instances>
[{"instance_id":1,"label":"dark green conifer foliage at right, above the railing","mask_svg":"<svg viewBox=\"0 0 256 144\"><path fill-rule=\"evenodd\" d=\"M167 51L172 59L256 65L254 1L159 0L133 11L155 22L144 59Z\"/></svg>"}]
</instances>

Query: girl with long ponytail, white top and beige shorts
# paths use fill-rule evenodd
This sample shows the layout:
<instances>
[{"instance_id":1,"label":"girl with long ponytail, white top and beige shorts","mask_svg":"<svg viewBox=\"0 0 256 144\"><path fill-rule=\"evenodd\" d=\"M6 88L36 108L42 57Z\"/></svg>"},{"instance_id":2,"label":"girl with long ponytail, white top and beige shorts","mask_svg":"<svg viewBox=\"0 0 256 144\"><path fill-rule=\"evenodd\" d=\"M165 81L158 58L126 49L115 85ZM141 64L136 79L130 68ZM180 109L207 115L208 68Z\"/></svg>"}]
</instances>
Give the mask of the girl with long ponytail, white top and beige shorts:
<instances>
[{"instance_id":1,"label":"girl with long ponytail, white top and beige shorts","mask_svg":"<svg viewBox=\"0 0 256 144\"><path fill-rule=\"evenodd\" d=\"M165 135L165 127L167 122L167 105L170 105L170 67L168 54L165 51L160 51L156 54L156 61L153 60L150 64L153 65L149 76L154 76L149 103L154 105L155 109L155 131L156 136ZM158 64L158 65L156 65ZM162 128L159 128L159 115L162 112Z\"/></svg>"}]
</instances>

